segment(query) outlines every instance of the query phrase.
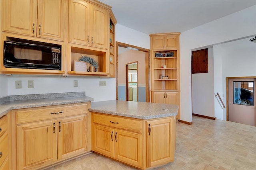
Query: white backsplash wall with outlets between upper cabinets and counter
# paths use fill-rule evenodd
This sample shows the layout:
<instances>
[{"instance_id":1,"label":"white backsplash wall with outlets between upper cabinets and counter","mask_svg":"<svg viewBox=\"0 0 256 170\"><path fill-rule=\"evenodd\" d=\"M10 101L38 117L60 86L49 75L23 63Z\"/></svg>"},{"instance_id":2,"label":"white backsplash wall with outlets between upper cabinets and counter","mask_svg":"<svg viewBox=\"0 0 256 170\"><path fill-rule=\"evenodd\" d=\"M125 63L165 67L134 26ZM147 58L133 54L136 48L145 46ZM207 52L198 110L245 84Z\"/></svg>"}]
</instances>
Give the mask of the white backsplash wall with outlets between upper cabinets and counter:
<instances>
[{"instance_id":1,"label":"white backsplash wall with outlets between upper cabinets and counter","mask_svg":"<svg viewBox=\"0 0 256 170\"><path fill-rule=\"evenodd\" d=\"M22 80L22 89L15 88L16 80ZM34 80L34 88L28 88L28 80ZM74 87L74 80L78 80L78 87ZM100 87L99 80L106 80L106 86ZM115 100L115 83L115 78L12 76L8 78L8 95L86 92L95 102Z\"/></svg>"}]
</instances>

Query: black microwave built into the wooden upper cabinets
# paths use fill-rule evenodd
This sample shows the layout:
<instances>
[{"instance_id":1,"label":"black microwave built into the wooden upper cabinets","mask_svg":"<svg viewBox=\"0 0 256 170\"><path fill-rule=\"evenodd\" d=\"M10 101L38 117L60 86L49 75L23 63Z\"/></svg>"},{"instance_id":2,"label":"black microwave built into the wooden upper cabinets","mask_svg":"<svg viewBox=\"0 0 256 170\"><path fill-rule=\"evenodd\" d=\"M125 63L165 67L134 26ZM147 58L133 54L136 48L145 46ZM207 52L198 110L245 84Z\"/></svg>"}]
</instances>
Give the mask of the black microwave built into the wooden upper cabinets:
<instances>
[{"instance_id":1,"label":"black microwave built into the wooden upper cabinets","mask_svg":"<svg viewBox=\"0 0 256 170\"><path fill-rule=\"evenodd\" d=\"M4 41L4 66L61 70L61 45L8 37Z\"/></svg>"}]
</instances>

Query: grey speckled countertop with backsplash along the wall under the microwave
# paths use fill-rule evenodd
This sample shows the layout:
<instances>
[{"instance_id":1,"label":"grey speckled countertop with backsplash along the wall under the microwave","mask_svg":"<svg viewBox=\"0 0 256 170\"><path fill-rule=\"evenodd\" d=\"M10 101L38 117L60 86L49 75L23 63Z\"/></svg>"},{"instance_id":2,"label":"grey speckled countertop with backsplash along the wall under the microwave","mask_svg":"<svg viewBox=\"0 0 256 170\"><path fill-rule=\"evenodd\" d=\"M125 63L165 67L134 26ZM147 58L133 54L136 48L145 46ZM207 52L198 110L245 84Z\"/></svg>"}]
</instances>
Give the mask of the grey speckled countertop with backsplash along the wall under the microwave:
<instances>
[{"instance_id":1,"label":"grey speckled countertop with backsplash along the wall under the microwave","mask_svg":"<svg viewBox=\"0 0 256 170\"><path fill-rule=\"evenodd\" d=\"M12 109L55 106L92 101L93 98L85 96L85 92L7 96L0 99L0 117Z\"/></svg>"}]
</instances>

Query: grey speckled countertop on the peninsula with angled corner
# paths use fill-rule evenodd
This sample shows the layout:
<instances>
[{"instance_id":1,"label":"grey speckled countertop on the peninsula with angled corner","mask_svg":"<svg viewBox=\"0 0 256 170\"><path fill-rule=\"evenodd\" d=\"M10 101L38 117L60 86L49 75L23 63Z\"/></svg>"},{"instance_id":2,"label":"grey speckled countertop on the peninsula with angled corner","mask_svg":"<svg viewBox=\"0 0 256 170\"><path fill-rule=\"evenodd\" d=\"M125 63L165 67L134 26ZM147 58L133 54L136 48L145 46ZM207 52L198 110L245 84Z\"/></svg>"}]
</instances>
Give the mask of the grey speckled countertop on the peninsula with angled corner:
<instances>
[{"instance_id":1,"label":"grey speckled countertop on the peninsula with angled corner","mask_svg":"<svg viewBox=\"0 0 256 170\"><path fill-rule=\"evenodd\" d=\"M92 102L89 111L137 119L154 119L175 116L178 113L178 108L178 105L173 104L108 100Z\"/></svg>"}]
</instances>

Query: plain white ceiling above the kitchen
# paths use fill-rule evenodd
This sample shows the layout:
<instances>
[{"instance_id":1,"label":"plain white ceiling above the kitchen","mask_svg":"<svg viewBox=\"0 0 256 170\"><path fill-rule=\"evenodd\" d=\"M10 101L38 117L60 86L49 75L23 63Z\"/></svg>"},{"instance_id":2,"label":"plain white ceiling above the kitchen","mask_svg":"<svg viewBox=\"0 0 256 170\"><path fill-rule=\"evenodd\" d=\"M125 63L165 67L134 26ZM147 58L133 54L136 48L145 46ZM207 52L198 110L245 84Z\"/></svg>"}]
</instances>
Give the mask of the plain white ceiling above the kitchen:
<instances>
[{"instance_id":1,"label":"plain white ceiling above the kitchen","mask_svg":"<svg viewBox=\"0 0 256 170\"><path fill-rule=\"evenodd\" d=\"M99 1L112 6L118 24L146 34L183 32L256 5L256 0Z\"/></svg>"}]
</instances>

